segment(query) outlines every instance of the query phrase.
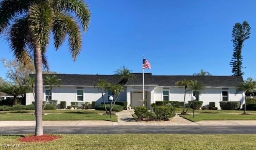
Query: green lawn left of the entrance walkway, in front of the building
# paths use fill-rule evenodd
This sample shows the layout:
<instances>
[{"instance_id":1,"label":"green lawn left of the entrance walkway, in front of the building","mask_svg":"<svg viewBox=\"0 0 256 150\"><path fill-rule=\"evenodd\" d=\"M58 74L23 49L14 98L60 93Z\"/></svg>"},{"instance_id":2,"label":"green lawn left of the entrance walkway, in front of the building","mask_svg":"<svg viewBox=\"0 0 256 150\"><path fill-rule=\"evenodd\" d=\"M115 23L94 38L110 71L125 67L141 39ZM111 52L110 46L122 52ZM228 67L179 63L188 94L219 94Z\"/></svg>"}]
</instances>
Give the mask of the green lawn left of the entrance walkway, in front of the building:
<instances>
[{"instance_id":1,"label":"green lawn left of the entrance walkway, in front of the building","mask_svg":"<svg viewBox=\"0 0 256 150\"><path fill-rule=\"evenodd\" d=\"M107 120L117 122L117 116L101 115L99 111L66 111L53 113L54 111L44 111L44 113L52 113L43 115L43 120ZM104 111L100 111L103 113ZM30 111L8 111L0 112L0 120L35 120L35 116ZM32 111L33 113L33 111Z\"/></svg>"}]
</instances>

